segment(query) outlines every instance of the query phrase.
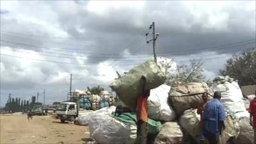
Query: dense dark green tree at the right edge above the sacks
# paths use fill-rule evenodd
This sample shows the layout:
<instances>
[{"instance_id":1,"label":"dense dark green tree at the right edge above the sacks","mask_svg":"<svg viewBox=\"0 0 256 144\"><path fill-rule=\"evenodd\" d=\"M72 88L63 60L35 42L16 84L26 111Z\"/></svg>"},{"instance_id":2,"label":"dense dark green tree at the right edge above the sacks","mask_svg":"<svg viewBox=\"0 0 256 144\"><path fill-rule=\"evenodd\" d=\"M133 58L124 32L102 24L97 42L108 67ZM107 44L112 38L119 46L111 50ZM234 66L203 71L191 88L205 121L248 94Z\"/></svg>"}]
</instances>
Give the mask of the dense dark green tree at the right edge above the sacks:
<instances>
[{"instance_id":1,"label":"dense dark green tree at the right edge above the sacks","mask_svg":"<svg viewBox=\"0 0 256 144\"><path fill-rule=\"evenodd\" d=\"M225 68L220 70L222 76L238 80L241 86L256 84L256 49L233 54L227 60Z\"/></svg>"}]
</instances>

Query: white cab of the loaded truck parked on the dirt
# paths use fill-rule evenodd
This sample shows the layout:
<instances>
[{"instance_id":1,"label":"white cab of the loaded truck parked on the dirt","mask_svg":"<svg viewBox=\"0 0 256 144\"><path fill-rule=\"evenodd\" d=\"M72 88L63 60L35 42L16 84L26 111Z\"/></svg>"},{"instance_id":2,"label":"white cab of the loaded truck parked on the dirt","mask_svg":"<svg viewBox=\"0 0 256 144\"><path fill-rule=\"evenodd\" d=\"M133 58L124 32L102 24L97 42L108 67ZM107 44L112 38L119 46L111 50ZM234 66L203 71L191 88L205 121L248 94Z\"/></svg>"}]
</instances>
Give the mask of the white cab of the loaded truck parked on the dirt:
<instances>
[{"instance_id":1,"label":"white cab of the loaded truck parked on the dirt","mask_svg":"<svg viewBox=\"0 0 256 144\"><path fill-rule=\"evenodd\" d=\"M77 113L76 102L61 102L56 109L57 118L60 118L61 123L65 122L65 120L74 121Z\"/></svg>"}]
</instances>

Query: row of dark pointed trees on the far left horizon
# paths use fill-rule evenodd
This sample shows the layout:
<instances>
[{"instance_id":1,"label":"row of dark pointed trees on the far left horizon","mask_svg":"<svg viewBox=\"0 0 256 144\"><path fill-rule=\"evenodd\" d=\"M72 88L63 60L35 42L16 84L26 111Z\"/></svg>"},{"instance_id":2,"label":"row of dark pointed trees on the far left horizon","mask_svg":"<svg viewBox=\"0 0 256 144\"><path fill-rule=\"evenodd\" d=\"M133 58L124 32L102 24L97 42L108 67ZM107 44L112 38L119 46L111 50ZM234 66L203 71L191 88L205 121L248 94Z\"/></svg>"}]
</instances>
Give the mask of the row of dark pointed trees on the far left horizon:
<instances>
[{"instance_id":1,"label":"row of dark pointed trees on the far left horizon","mask_svg":"<svg viewBox=\"0 0 256 144\"><path fill-rule=\"evenodd\" d=\"M5 104L5 111L8 113L16 113L16 112L26 112L29 108L31 108L32 103L29 100L20 100L20 98L14 99L9 98L8 102Z\"/></svg>"}]
</instances>

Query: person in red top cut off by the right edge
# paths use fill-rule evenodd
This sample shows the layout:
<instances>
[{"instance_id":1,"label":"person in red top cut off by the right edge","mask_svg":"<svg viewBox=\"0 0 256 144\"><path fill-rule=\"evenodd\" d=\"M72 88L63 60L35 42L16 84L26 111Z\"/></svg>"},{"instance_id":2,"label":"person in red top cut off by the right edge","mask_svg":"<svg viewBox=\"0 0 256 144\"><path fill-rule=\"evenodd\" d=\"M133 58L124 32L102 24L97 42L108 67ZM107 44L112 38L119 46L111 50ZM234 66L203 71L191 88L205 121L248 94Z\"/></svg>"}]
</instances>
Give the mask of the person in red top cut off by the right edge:
<instances>
[{"instance_id":1,"label":"person in red top cut off by the right edge","mask_svg":"<svg viewBox=\"0 0 256 144\"><path fill-rule=\"evenodd\" d=\"M256 95L256 91L255 91L255 95ZM250 113L250 125L252 125L253 131L254 131L253 143L256 144L256 97L254 97L250 102L248 112Z\"/></svg>"}]
</instances>

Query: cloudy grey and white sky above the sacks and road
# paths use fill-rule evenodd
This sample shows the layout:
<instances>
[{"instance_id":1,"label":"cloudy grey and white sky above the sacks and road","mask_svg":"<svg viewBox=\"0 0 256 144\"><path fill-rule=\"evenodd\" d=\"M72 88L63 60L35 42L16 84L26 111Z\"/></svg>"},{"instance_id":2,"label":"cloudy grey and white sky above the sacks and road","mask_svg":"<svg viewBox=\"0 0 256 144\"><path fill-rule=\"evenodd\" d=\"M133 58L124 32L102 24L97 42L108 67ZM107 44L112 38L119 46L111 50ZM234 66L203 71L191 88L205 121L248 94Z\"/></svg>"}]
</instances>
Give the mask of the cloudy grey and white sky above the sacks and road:
<instances>
[{"instance_id":1,"label":"cloudy grey and white sky above the sacks and road","mask_svg":"<svg viewBox=\"0 0 256 144\"><path fill-rule=\"evenodd\" d=\"M45 104L100 85L110 90L152 54L175 65L204 62L218 76L236 52L255 47L255 1L1 1L1 106L11 97ZM145 34L148 33L148 36Z\"/></svg>"}]
</instances>

